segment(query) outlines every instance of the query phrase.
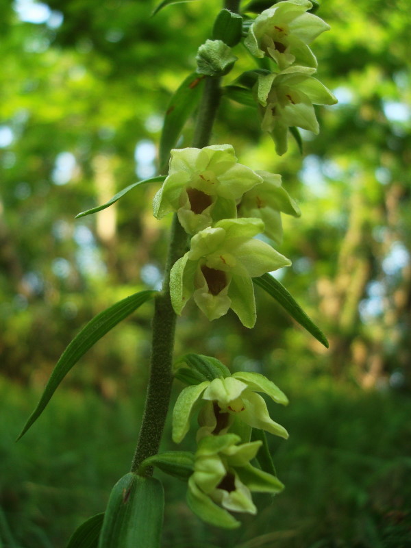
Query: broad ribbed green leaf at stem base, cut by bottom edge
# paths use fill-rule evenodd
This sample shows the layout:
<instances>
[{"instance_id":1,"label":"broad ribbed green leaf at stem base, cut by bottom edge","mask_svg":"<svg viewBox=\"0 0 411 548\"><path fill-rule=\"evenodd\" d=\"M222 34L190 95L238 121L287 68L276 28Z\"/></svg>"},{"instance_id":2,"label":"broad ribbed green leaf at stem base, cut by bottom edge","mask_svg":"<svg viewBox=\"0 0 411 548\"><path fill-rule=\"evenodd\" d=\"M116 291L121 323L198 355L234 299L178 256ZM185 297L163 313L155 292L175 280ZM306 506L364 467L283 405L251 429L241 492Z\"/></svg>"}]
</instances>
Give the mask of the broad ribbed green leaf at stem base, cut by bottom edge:
<instances>
[{"instance_id":1,"label":"broad ribbed green leaf at stem base, cut by bottom edge","mask_svg":"<svg viewBox=\"0 0 411 548\"><path fill-rule=\"evenodd\" d=\"M160 548L163 512L158 479L129 472L110 494L99 548Z\"/></svg>"}]
</instances>

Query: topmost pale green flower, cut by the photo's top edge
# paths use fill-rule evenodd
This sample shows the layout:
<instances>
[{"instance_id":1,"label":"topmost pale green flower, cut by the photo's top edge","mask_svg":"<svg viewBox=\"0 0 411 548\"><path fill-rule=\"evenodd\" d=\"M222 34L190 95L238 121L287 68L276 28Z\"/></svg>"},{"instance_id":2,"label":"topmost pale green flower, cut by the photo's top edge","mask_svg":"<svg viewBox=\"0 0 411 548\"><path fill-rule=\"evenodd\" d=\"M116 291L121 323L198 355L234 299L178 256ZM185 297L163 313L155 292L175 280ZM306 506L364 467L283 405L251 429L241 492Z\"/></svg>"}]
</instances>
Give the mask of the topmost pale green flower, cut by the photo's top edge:
<instances>
[{"instance_id":1,"label":"topmost pale green flower, cut by the photo's top edge","mask_svg":"<svg viewBox=\"0 0 411 548\"><path fill-rule=\"evenodd\" d=\"M264 10L253 22L245 45L258 58L271 57L286 69L291 64L316 67L314 53L308 44L329 25L316 15L306 13L312 8L307 0L288 0Z\"/></svg>"}]
</instances>

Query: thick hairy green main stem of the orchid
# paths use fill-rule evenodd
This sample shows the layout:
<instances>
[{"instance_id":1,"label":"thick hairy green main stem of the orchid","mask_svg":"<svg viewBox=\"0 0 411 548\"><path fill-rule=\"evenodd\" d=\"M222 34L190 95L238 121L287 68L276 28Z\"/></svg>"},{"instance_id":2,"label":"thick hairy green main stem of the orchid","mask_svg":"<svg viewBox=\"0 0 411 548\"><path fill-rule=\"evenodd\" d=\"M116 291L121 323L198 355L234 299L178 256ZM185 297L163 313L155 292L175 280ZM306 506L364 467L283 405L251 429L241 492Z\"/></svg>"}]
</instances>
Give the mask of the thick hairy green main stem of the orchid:
<instances>
[{"instance_id":1,"label":"thick hairy green main stem of the orchid","mask_svg":"<svg viewBox=\"0 0 411 548\"><path fill-rule=\"evenodd\" d=\"M220 79L206 77L203 97L197 115L195 134L192 139L193 147L202 148L208 145L219 106L219 99ZM176 260L184 255L187 249L187 239L188 236L179 224L177 214L174 214L162 292L155 297L149 385L147 387L140 435L132 462L132 472L138 472L138 468L145 458L158 453L166 415L169 410L171 384L173 382L171 366L173 363L176 320L173 306L171 306L169 280L171 267ZM151 475L153 469L149 467L144 473L145 475Z\"/></svg>"}]
</instances>

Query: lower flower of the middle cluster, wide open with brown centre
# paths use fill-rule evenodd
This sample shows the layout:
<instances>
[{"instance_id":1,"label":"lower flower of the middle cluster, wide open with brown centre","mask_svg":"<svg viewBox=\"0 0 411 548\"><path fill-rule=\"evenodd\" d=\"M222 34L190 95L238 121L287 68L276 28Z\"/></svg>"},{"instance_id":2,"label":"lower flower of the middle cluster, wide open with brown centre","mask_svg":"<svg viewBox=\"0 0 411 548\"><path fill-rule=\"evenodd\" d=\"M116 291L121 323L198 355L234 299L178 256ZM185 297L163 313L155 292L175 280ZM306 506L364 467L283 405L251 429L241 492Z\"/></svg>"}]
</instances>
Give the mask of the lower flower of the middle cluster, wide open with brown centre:
<instances>
[{"instance_id":1,"label":"lower flower of the middle cluster, wide open with brown centre","mask_svg":"<svg viewBox=\"0 0 411 548\"><path fill-rule=\"evenodd\" d=\"M190 251L170 273L175 313L181 314L193 297L209 320L232 308L245 327L253 327L256 302L251 277L291 264L270 245L253 238L263 231L261 219L223 219L193 236Z\"/></svg>"}]
</instances>

